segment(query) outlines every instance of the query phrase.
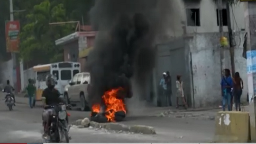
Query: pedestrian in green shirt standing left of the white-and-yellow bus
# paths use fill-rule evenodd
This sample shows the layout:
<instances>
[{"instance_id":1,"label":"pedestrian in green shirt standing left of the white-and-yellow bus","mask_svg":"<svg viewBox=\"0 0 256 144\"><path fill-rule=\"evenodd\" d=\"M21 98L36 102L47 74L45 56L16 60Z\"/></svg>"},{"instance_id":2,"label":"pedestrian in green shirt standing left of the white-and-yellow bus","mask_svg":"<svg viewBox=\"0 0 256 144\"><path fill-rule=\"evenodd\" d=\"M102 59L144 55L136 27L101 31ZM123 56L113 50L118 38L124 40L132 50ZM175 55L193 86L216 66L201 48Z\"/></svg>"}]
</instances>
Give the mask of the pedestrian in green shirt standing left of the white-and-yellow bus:
<instances>
[{"instance_id":1,"label":"pedestrian in green shirt standing left of the white-and-yellow bus","mask_svg":"<svg viewBox=\"0 0 256 144\"><path fill-rule=\"evenodd\" d=\"M36 104L36 100L35 100L36 86L33 84L30 78L28 79L28 85L26 89L27 89L29 107L33 108Z\"/></svg>"}]
</instances>

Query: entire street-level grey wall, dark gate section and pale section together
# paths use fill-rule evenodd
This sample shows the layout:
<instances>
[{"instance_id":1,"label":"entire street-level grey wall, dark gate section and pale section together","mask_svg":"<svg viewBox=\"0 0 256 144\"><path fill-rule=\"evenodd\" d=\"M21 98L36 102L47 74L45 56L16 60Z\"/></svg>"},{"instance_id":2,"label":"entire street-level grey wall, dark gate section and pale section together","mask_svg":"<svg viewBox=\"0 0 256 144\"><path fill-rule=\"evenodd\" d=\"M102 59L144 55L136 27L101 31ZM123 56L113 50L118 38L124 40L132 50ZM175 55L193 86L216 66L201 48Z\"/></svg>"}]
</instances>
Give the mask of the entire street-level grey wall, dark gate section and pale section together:
<instances>
[{"instance_id":1,"label":"entire street-level grey wall, dark gate section and pale section together","mask_svg":"<svg viewBox=\"0 0 256 144\"><path fill-rule=\"evenodd\" d=\"M246 101L247 67L246 59L242 57L244 32L235 34L235 68L244 81L242 101ZM224 50L225 68L231 70L229 49ZM219 33L194 34L192 37L176 39L173 42L157 45L155 65L155 85L157 96L164 102L159 93L159 81L162 73L170 71L172 76L172 101L176 103L175 81L177 75L182 75L184 93L191 107L218 106L221 102L220 91L220 57ZM155 102L154 102L155 103Z\"/></svg>"}]
</instances>

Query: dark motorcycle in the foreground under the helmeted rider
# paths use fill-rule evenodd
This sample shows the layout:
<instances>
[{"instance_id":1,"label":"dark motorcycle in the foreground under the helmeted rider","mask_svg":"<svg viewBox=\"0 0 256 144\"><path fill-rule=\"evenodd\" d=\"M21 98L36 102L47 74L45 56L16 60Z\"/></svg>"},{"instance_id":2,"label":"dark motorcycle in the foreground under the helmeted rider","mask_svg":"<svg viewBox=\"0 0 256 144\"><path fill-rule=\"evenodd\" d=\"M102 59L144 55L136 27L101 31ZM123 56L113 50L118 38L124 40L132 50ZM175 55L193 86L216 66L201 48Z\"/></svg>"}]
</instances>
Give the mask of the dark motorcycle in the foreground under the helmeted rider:
<instances>
[{"instance_id":1,"label":"dark motorcycle in the foreground under the helmeted rider","mask_svg":"<svg viewBox=\"0 0 256 144\"><path fill-rule=\"evenodd\" d=\"M67 106L70 107L70 106ZM58 104L55 106L48 106L46 109L54 109L54 115L50 118L50 127L48 129L48 135L50 137L50 143L60 143L65 140L64 143L69 143L69 129L70 126L68 125L66 119L70 116L69 113L66 111L65 104ZM45 127L46 123L43 122L43 126Z\"/></svg>"}]
</instances>

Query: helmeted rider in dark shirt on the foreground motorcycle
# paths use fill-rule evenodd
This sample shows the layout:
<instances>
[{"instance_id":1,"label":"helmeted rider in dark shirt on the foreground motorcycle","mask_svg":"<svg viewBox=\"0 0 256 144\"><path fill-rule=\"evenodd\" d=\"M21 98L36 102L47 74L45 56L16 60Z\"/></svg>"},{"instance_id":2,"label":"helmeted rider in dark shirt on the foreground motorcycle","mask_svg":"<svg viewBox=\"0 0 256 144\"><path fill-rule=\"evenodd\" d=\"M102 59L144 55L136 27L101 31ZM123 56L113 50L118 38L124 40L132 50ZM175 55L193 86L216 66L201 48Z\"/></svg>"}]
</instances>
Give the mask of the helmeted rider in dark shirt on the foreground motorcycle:
<instances>
[{"instance_id":1,"label":"helmeted rider in dark shirt on the foreground motorcycle","mask_svg":"<svg viewBox=\"0 0 256 144\"><path fill-rule=\"evenodd\" d=\"M47 138L48 135L48 127L50 126L50 116L55 113L55 110L49 108L50 105L57 105L61 102L65 103L65 101L60 97L60 92L55 89L56 77L55 75L47 75L46 76L46 85L47 88L42 93L42 100L44 106L44 112L42 115L44 122L44 137ZM66 118L67 123L68 119Z\"/></svg>"}]
</instances>

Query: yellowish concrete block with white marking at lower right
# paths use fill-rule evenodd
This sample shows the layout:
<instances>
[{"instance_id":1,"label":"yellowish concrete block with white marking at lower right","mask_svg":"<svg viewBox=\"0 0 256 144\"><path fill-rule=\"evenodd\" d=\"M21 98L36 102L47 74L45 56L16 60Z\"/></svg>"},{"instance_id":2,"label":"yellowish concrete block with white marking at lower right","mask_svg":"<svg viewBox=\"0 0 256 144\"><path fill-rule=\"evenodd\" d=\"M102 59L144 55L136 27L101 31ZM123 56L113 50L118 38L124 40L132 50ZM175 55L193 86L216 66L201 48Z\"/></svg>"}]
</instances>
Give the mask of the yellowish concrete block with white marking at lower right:
<instances>
[{"instance_id":1,"label":"yellowish concrete block with white marking at lower right","mask_svg":"<svg viewBox=\"0 0 256 144\"><path fill-rule=\"evenodd\" d=\"M219 111L215 118L215 143L247 143L250 140L248 112Z\"/></svg>"}]
</instances>

